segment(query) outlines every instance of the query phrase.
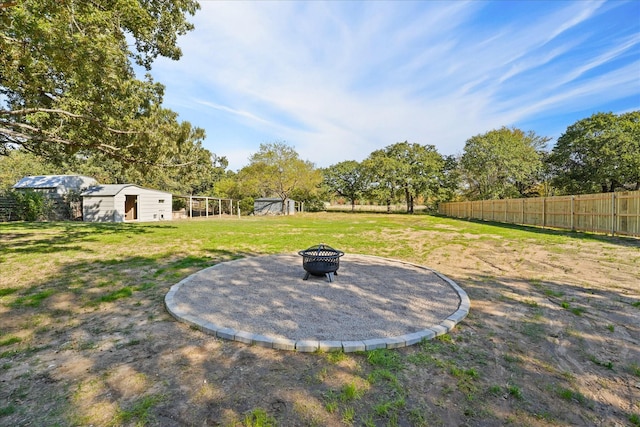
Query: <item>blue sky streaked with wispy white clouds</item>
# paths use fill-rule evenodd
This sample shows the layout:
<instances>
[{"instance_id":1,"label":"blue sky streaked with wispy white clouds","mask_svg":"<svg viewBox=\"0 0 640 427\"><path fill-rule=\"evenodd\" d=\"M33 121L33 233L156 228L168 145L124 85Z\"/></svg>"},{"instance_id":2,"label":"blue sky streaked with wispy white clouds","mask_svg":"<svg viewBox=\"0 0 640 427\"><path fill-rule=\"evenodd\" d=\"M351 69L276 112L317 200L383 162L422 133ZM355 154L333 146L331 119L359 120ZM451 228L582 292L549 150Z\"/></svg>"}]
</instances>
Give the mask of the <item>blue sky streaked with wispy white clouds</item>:
<instances>
[{"instance_id":1,"label":"blue sky streaked with wispy white clouds","mask_svg":"<svg viewBox=\"0 0 640 427\"><path fill-rule=\"evenodd\" d=\"M640 1L201 1L164 105L238 170L284 141L318 167L395 142L461 154L640 109Z\"/></svg>"}]
</instances>

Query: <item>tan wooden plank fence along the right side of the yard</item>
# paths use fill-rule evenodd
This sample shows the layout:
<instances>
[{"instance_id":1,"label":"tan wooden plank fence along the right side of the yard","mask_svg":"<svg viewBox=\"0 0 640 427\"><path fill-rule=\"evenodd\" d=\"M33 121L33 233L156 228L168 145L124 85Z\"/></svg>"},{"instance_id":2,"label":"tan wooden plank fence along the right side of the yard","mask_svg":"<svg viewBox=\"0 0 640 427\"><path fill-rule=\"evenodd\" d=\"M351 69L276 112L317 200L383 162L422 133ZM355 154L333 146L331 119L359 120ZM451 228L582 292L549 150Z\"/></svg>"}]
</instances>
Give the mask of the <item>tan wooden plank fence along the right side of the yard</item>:
<instances>
[{"instance_id":1,"label":"tan wooden plank fence along the right side of the yard","mask_svg":"<svg viewBox=\"0 0 640 427\"><path fill-rule=\"evenodd\" d=\"M441 203L442 215L640 236L640 191Z\"/></svg>"}]
</instances>

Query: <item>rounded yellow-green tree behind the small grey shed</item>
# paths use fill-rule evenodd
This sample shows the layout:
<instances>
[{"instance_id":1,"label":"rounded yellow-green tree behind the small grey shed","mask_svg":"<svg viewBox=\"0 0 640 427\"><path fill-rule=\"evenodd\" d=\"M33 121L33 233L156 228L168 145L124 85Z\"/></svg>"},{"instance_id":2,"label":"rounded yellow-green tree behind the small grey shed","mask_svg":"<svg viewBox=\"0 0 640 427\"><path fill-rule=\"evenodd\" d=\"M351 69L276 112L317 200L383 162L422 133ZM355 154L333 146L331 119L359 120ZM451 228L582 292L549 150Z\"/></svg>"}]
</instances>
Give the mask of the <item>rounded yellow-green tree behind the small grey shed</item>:
<instances>
[{"instance_id":1,"label":"rounded yellow-green tree behind the small grey shed","mask_svg":"<svg viewBox=\"0 0 640 427\"><path fill-rule=\"evenodd\" d=\"M300 159L295 148L274 142L260 144L237 179L246 196L279 197L286 213L287 200L293 194L312 194L321 184L322 174L313 163Z\"/></svg>"}]
</instances>

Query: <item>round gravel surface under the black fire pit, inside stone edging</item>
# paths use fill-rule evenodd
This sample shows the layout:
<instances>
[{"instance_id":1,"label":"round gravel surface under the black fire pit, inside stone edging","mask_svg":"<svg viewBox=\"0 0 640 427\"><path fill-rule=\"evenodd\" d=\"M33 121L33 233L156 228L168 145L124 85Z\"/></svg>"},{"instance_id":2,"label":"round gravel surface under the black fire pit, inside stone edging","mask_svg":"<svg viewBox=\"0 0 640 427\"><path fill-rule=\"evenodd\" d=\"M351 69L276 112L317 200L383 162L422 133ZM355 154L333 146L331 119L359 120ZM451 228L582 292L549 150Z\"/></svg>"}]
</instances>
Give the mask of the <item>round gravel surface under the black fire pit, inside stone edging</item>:
<instances>
[{"instance_id":1,"label":"round gravel surface under the black fire pit, inside stone edging","mask_svg":"<svg viewBox=\"0 0 640 427\"><path fill-rule=\"evenodd\" d=\"M218 326L291 340L366 340L418 332L460 304L432 270L401 261L347 254L332 283L303 280L297 254L217 264L183 281L180 312Z\"/></svg>"}]
</instances>

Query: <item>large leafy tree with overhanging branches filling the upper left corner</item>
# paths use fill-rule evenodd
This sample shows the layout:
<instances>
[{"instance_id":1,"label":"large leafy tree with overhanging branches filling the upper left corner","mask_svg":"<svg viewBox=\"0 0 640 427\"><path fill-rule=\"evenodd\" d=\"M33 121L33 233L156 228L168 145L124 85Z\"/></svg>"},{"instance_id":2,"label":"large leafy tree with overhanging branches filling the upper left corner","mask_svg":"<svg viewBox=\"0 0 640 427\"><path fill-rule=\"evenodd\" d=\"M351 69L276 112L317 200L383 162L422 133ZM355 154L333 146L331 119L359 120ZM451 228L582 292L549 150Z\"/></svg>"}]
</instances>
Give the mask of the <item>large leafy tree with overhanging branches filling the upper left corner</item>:
<instances>
[{"instance_id":1,"label":"large leafy tree with overhanging branches filling the upper left corner","mask_svg":"<svg viewBox=\"0 0 640 427\"><path fill-rule=\"evenodd\" d=\"M175 163L179 123L161 106L162 85L137 79L133 63L178 59L177 37L197 8L195 0L1 2L0 154Z\"/></svg>"}]
</instances>

